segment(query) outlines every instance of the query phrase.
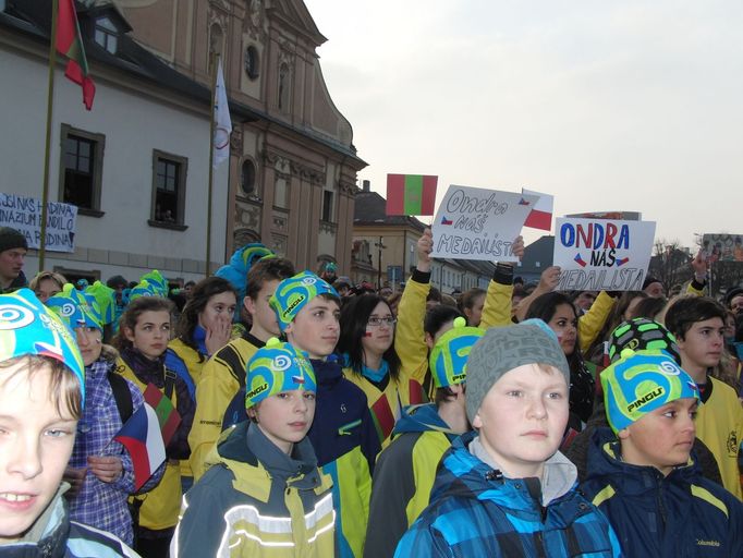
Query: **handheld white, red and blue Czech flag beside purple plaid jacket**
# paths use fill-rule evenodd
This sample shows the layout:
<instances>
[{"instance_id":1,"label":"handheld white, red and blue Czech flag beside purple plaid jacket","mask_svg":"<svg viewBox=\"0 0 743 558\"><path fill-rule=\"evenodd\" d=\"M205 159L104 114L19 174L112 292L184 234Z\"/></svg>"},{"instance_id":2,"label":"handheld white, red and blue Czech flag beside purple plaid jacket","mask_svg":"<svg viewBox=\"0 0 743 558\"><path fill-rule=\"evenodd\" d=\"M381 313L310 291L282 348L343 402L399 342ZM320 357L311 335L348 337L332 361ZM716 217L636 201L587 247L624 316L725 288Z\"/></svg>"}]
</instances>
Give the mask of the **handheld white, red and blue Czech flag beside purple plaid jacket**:
<instances>
[{"instance_id":1,"label":"handheld white, red and blue Czech flag beside purple plaid jacket","mask_svg":"<svg viewBox=\"0 0 743 558\"><path fill-rule=\"evenodd\" d=\"M113 439L124 446L132 457L134 487L138 490L166 460L166 445L157 413L145 402Z\"/></svg>"}]
</instances>

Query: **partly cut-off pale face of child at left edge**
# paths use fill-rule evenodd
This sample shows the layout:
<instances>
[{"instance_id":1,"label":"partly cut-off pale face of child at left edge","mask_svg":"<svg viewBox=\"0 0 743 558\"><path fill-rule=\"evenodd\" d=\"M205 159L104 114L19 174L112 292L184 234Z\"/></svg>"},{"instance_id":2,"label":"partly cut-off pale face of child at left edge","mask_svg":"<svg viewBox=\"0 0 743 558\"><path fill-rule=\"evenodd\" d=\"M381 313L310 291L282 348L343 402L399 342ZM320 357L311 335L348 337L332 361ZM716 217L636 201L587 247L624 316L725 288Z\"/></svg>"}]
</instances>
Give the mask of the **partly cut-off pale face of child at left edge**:
<instances>
[{"instance_id":1,"label":"partly cut-off pale face of child at left edge","mask_svg":"<svg viewBox=\"0 0 743 558\"><path fill-rule=\"evenodd\" d=\"M51 368L24 367L0 369L0 544L23 536L46 509L75 441L77 421L50 398Z\"/></svg>"}]
</instances>

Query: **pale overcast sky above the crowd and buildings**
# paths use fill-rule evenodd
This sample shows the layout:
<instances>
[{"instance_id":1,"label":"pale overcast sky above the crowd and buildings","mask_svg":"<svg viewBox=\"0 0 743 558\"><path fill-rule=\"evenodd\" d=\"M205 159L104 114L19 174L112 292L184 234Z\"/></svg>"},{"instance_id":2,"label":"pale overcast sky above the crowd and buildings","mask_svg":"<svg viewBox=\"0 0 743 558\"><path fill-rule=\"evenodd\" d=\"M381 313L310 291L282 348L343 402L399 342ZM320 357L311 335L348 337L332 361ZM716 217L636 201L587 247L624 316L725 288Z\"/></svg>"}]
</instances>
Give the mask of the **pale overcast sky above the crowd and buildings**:
<instances>
[{"instance_id":1,"label":"pale overcast sky above the crowd and buildings","mask_svg":"<svg viewBox=\"0 0 743 558\"><path fill-rule=\"evenodd\" d=\"M439 199L525 186L557 216L642 211L682 245L743 233L740 0L306 4L382 195L388 172L438 174Z\"/></svg>"}]
</instances>

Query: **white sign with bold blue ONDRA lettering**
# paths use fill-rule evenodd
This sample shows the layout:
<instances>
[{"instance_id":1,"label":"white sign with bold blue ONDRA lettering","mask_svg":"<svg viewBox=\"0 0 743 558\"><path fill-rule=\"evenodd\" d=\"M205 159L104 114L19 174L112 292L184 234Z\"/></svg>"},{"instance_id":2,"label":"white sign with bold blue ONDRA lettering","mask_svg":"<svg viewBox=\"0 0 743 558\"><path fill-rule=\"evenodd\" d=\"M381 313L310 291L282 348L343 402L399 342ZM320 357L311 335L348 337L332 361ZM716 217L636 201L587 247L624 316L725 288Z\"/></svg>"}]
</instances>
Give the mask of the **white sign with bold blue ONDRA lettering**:
<instances>
[{"instance_id":1,"label":"white sign with bold blue ONDRA lettering","mask_svg":"<svg viewBox=\"0 0 743 558\"><path fill-rule=\"evenodd\" d=\"M655 222L559 218L552 265L559 291L640 291L653 254Z\"/></svg>"}]
</instances>

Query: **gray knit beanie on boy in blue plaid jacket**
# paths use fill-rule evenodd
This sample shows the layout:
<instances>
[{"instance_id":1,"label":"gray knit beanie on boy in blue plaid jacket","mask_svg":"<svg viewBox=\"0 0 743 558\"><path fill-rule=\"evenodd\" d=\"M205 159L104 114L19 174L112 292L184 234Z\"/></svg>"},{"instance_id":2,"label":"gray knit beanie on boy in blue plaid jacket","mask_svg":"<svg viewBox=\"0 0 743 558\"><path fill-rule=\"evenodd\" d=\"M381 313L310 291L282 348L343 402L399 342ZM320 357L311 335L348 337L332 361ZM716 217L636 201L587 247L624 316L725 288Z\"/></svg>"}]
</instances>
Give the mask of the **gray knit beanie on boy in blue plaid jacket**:
<instances>
[{"instance_id":1,"label":"gray knit beanie on boy in blue plaid jacket","mask_svg":"<svg viewBox=\"0 0 743 558\"><path fill-rule=\"evenodd\" d=\"M494 327L475 343L467 360L467 417L475 418L483 399L507 372L524 364L558 368L570 386L570 366L555 332L540 319Z\"/></svg>"}]
</instances>

